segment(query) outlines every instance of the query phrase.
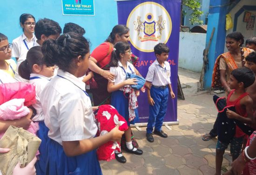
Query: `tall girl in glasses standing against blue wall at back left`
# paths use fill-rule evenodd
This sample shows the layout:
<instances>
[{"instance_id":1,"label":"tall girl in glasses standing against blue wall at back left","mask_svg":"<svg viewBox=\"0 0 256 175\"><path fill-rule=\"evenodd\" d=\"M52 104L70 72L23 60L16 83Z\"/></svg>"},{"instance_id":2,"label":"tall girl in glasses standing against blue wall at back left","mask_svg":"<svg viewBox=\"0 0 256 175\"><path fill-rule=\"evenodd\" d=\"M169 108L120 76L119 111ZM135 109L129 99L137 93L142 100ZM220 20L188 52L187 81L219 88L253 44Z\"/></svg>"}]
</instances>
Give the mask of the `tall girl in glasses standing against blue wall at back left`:
<instances>
[{"instance_id":1,"label":"tall girl in glasses standing against blue wall at back left","mask_svg":"<svg viewBox=\"0 0 256 175\"><path fill-rule=\"evenodd\" d=\"M27 51L35 46L36 43L34 35L35 18L32 14L23 13L20 15L20 26L23 34L13 40L13 53L12 57L17 60L17 72L21 62L26 60Z\"/></svg>"}]
</instances>

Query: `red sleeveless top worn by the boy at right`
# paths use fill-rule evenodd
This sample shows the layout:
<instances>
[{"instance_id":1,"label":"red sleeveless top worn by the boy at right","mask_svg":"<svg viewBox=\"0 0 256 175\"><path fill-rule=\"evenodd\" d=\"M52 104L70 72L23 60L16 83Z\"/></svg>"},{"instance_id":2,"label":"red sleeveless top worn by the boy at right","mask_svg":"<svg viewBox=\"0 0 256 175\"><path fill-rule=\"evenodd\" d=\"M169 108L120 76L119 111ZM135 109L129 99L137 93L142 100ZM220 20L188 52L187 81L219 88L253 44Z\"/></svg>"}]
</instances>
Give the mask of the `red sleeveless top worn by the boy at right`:
<instances>
[{"instance_id":1,"label":"red sleeveless top worn by the boy at right","mask_svg":"<svg viewBox=\"0 0 256 175\"><path fill-rule=\"evenodd\" d=\"M235 90L232 90L227 98L227 106L230 105L234 105L235 109L236 109L236 113L238 113L239 115L243 116L243 117L247 117L247 113L246 113L246 109L245 107L242 107L240 104L240 100L243 99L243 97L249 95L248 93L243 93L240 97L238 97L236 100L234 101L230 101L230 97L231 95L235 92ZM245 133L243 133L243 131L236 125L236 134L235 137L243 137L245 135Z\"/></svg>"}]
</instances>

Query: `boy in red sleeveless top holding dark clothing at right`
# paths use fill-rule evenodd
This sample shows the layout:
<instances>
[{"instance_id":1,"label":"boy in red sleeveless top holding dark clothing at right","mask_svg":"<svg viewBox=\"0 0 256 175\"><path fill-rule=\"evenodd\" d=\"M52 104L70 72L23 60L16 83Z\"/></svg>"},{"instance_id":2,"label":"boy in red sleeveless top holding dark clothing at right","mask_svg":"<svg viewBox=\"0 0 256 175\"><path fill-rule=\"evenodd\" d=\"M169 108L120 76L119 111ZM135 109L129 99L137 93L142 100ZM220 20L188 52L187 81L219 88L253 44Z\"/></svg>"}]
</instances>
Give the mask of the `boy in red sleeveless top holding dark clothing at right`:
<instances>
[{"instance_id":1,"label":"boy in red sleeveless top holding dark clothing at right","mask_svg":"<svg viewBox=\"0 0 256 175\"><path fill-rule=\"evenodd\" d=\"M255 75L249 68L243 67L235 69L231 72L230 79L228 81L229 88L232 91L227 97L227 106L234 105L236 113L227 110L227 117L230 119L237 119L246 124L252 124L253 116L253 100L249 97L249 94L245 92L245 88L248 88L255 81ZM247 116L247 117L246 117ZM243 144L243 131L236 126L236 134L230 143L230 152L232 154L232 160L236 160L239 156L242 144ZM223 160L223 154L225 149L228 148L228 144L222 143L219 140L216 144L216 175L221 174L221 166Z\"/></svg>"}]
</instances>

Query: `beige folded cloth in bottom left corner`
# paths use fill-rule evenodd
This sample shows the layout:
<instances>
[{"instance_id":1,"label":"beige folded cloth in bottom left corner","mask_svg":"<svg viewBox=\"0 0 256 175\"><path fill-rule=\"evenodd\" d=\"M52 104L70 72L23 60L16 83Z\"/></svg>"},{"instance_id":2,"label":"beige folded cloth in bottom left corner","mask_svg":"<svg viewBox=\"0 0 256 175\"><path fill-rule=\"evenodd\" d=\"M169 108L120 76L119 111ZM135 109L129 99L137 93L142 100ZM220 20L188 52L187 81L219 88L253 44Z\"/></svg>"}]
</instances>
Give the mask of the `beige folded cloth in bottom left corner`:
<instances>
[{"instance_id":1,"label":"beige folded cloth in bottom left corner","mask_svg":"<svg viewBox=\"0 0 256 175\"><path fill-rule=\"evenodd\" d=\"M9 148L0 153L0 171L3 175L12 175L17 163L24 168L34 158L41 140L32 133L15 126L9 126L0 139L0 148Z\"/></svg>"}]
</instances>

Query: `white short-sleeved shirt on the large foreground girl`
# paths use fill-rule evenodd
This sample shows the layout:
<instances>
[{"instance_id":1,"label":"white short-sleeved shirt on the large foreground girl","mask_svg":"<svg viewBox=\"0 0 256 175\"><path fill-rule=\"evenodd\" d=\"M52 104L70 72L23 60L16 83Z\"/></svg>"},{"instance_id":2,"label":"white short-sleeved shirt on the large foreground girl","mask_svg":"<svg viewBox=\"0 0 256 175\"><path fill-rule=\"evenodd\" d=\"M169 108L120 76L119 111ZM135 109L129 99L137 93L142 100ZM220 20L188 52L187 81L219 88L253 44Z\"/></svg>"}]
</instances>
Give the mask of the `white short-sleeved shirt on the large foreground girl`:
<instances>
[{"instance_id":1,"label":"white short-sleeved shirt on the large foreground girl","mask_svg":"<svg viewBox=\"0 0 256 175\"><path fill-rule=\"evenodd\" d=\"M96 135L91 100L84 91L84 82L59 69L40 95L48 136L61 145Z\"/></svg>"}]
</instances>

